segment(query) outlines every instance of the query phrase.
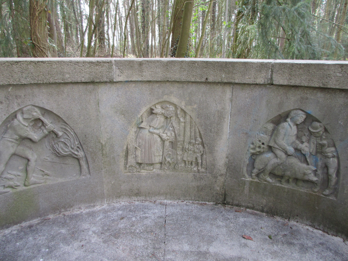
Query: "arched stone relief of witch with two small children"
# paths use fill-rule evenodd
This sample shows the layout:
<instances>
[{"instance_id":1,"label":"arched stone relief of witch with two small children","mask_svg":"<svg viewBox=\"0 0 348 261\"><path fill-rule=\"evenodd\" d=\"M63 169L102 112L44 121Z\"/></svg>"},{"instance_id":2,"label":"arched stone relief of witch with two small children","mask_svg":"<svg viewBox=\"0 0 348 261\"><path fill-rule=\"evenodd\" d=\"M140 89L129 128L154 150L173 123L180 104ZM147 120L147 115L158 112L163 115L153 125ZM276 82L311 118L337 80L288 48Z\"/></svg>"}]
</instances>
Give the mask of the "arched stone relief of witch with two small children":
<instances>
[{"instance_id":1,"label":"arched stone relief of witch with two small children","mask_svg":"<svg viewBox=\"0 0 348 261\"><path fill-rule=\"evenodd\" d=\"M125 156L125 172L206 173L204 142L180 106L159 102L137 120Z\"/></svg>"}]
</instances>

